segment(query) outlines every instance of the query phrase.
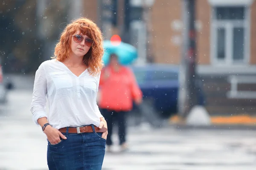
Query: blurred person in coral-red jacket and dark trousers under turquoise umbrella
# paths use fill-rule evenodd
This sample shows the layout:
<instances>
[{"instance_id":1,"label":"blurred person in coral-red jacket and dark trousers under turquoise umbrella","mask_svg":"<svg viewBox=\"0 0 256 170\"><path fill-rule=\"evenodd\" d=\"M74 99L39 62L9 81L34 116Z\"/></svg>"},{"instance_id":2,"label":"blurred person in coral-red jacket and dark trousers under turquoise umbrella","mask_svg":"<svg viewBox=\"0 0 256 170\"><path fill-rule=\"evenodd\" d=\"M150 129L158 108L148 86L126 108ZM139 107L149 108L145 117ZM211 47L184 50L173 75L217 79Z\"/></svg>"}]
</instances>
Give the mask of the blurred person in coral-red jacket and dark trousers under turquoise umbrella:
<instances>
[{"instance_id":1,"label":"blurred person in coral-red jacket and dark trousers under turquoise umbrella","mask_svg":"<svg viewBox=\"0 0 256 170\"><path fill-rule=\"evenodd\" d=\"M137 84L133 72L118 62L116 54L110 55L110 63L102 69L100 78L99 108L108 124L107 150L111 151L113 144L113 119L118 122L119 145L121 151L128 149L126 142L125 116L133 107L133 100L137 105L142 102L142 92Z\"/></svg>"}]
</instances>

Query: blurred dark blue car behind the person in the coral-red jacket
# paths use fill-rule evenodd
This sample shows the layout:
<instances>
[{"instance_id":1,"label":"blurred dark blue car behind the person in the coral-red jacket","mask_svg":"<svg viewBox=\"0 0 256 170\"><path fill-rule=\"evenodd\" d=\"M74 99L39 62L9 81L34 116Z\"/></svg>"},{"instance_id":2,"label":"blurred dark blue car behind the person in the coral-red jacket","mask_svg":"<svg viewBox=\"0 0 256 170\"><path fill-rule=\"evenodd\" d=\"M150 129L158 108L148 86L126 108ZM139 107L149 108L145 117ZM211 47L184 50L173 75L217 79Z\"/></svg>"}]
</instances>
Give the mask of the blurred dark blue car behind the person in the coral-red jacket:
<instances>
[{"instance_id":1,"label":"blurred dark blue car behind the person in the coral-red jacket","mask_svg":"<svg viewBox=\"0 0 256 170\"><path fill-rule=\"evenodd\" d=\"M143 92L143 102L167 118L177 113L179 90L179 67L173 65L147 64L130 66ZM200 90L200 92L202 92ZM201 93L199 104L204 101ZM136 108L136 107L135 107Z\"/></svg>"}]
</instances>

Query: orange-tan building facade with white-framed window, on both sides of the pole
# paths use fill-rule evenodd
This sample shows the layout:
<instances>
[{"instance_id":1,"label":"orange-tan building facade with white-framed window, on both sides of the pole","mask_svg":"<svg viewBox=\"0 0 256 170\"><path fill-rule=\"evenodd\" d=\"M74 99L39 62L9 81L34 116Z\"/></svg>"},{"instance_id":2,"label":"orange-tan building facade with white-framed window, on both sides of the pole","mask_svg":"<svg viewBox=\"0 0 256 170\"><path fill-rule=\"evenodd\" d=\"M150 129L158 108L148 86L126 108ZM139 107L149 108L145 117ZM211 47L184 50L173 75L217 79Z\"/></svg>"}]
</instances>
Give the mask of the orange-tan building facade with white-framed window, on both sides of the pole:
<instances>
[{"instance_id":1,"label":"orange-tan building facade with white-framed window, on both sides of the pole","mask_svg":"<svg viewBox=\"0 0 256 170\"><path fill-rule=\"evenodd\" d=\"M155 1L152 34L156 62L180 63L183 10L182 0ZM197 0L198 64L211 66L208 71L221 66L230 71L236 66L249 70L256 64L255 18L254 0Z\"/></svg>"}]
</instances>

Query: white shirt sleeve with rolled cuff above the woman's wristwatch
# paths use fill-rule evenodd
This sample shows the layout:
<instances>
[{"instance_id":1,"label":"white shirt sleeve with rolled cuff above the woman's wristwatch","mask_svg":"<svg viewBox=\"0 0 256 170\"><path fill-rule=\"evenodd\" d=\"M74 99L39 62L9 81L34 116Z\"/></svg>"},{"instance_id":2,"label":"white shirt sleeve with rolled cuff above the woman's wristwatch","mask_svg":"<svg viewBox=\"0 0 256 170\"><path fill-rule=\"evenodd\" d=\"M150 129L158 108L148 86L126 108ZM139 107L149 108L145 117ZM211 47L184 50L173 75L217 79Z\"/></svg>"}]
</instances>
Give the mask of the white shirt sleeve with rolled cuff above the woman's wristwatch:
<instances>
[{"instance_id":1,"label":"white shirt sleeve with rolled cuff above the woman's wristwatch","mask_svg":"<svg viewBox=\"0 0 256 170\"><path fill-rule=\"evenodd\" d=\"M36 125L38 119L42 117L47 118L46 108L46 94L47 94L47 79L44 70L44 63L42 63L38 70L35 72L34 90L32 95L32 102L30 111L33 114L33 121Z\"/></svg>"}]
</instances>

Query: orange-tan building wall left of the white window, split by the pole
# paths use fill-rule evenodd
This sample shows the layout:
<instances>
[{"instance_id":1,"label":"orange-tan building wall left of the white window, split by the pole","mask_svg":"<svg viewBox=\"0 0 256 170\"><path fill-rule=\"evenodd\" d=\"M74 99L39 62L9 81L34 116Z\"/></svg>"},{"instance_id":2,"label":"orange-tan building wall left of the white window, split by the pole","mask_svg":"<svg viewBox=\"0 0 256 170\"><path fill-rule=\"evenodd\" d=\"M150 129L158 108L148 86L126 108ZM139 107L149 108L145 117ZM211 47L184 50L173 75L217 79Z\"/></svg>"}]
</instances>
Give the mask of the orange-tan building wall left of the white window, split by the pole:
<instances>
[{"instance_id":1,"label":"orange-tan building wall left of the white window, split by the pole","mask_svg":"<svg viewBox=\"0 0 256 170\"><path fill-rule=\"evenodd\" d=\"M180 42L182 41L181 31L183 26L181 25L180 29L175 29L174 25L183 23L182 5L181 0L159 0L155 1L152 7L152 35L156 62L170 64L180 63L182 52ZM201 23L201 29L198 30L197 33L197 59L200 64L209 64L211 7L207 0L201 0L200 3L196 4L196 10L197 20Z\"/></svg>"}]
</instances>

